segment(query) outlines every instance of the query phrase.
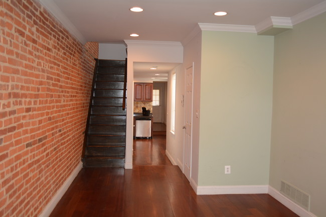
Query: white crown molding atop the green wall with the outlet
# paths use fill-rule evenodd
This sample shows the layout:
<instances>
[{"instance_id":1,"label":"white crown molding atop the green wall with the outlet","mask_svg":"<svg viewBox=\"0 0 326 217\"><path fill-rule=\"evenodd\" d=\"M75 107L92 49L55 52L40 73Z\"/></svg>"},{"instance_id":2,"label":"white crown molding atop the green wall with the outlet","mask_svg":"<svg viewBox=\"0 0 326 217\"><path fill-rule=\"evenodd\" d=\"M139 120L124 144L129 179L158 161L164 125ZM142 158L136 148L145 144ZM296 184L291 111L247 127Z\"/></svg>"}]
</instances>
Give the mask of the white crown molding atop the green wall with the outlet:
<instances>
[{"instance_id":1,"label":"white crown molding atop the green wall with the outlet","mask_svg":"<svg viewBox=\"0 0 326 217\"><path fill-rule=\"evenodd\" d=\"M226 25L226 24L198 24L201 30L207 31L227 31L227 32L243 32L257 33L255 26L246 25Z\"/></svg>"}]
</instances>

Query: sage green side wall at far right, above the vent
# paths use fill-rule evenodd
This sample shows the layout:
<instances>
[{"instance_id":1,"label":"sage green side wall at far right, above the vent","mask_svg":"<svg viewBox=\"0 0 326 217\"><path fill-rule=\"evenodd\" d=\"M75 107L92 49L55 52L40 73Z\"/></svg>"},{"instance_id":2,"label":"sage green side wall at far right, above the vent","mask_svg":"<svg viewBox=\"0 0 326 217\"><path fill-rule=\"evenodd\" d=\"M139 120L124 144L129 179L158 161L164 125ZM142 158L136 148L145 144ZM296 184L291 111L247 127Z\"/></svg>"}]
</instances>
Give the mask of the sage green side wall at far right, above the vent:
<instances>
[{"instance_id":1,"label":"sage green side wall at far right, above the vent","mask_svg":"<svg viewBox=\"0 0 326 217\"><path fill-rule=\"evenodd\" d=\"M275 36L270 185L284 180L326 216L326 13Z\"/></svg>"}]
</instances>

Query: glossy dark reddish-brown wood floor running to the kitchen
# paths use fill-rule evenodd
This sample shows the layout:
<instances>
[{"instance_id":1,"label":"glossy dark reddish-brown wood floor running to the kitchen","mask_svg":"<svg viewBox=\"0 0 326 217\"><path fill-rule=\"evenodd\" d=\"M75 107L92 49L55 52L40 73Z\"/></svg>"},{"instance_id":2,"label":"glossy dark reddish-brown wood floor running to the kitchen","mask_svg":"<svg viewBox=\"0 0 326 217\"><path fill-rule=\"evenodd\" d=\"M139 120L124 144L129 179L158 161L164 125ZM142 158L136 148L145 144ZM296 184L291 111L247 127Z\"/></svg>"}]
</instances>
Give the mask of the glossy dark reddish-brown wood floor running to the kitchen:
<instances>
[{"instance_id":1,"label":"glossy dark reddish-brown wood floor running to the kitchen","mask_svg":"<svg viewBox=\"0 0 326 217\"><path fill-rule=\"evenodd\" d=\"M196 195L164 136L134 151L133 169L83 168L50 217L298 217L268 194Z\"/></svg>"}]
</instances>

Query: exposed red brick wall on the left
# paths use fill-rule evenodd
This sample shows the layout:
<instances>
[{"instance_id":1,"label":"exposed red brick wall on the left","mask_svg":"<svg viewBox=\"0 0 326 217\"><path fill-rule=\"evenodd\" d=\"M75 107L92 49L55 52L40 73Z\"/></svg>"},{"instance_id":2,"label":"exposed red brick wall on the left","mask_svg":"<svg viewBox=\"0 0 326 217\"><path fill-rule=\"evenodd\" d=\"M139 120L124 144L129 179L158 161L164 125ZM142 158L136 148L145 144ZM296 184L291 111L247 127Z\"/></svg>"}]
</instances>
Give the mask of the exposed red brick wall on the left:
<instances>
[{"instance_id":1,"label":"exposed red brick wall on the left","mask_svg":"<svg viewBox=\"0 0 326 217\"><path fill-rule=\"evenodd\" d=\"M0 216L38 216L81 161L98 43L0 0Z\"/></svg>"}]
</instances>

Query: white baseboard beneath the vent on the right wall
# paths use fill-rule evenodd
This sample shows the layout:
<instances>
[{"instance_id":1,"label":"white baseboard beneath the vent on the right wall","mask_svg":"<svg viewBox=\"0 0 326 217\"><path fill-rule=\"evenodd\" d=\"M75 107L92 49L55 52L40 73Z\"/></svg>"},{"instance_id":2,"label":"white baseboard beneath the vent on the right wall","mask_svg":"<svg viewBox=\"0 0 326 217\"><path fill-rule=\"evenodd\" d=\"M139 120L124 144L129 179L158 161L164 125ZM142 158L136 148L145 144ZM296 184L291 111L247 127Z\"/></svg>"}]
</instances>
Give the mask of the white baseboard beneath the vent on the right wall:
<instances>
[{"instance_id":1,"label":"white baseboard beneath the vent on the right wall","mask_svg":"<svg viewBox=\"0 0 326 217\"><path fill-rule=\"evenodd\" d=\"M295 214L299 215L300 217L317 217L316 215L312 214L311 212L305 210L298 204L294 203L292 200L281 194L278 190L273 188L272 186L268 186L268 194L278 200L280 203L285 205Z\"/></svg>"}]
</instances>

